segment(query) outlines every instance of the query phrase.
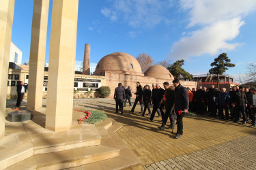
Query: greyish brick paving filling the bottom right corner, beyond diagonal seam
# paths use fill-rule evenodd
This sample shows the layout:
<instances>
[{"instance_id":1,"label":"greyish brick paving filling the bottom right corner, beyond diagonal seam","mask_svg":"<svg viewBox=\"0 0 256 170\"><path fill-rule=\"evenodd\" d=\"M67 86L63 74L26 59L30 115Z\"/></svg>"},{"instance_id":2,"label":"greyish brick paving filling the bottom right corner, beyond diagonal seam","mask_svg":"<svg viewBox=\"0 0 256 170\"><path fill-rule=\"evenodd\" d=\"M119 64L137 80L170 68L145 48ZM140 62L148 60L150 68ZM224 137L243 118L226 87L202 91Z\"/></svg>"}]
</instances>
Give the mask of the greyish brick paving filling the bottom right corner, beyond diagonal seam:
<instances>
[{"instance_id":1,"label":"greyish brick paving filling the bottom right corner, beyond diagonal seam","mask_svg":"<svg viewBox=\"0 0 256 170\"><path fill-rule=\"evenodd\" d=\"M256 136L163 160L145 169L256 169Z\"/></svg>"}]
</instances>

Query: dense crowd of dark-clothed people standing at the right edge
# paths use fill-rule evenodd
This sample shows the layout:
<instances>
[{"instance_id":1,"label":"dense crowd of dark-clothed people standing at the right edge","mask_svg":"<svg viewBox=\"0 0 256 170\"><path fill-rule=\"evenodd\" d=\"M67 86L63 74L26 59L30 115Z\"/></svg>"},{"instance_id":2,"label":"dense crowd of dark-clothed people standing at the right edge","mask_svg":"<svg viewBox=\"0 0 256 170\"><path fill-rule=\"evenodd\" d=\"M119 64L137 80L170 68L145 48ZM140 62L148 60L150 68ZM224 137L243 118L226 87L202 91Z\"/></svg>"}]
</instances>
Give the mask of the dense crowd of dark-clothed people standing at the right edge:
<instances>
[{"instance_id":1,"label":"dense crowd of dark-clothed people standing at the right edge","mask_svg":"<svg viewBox=\"0 0 256 170\"><path fill-rule=\"evenodd\" d=\"M227 91L226 88L218 90L214 85L210 88L199 86L197 90L188 89L190 98L189 109L197 114L206 114L223 120L232 120L242 124L252 123L255 127L256 120L256 92L255 88L233 86ZM225 115L224 115L225 112Z\"/></svg>"}]
</instances>

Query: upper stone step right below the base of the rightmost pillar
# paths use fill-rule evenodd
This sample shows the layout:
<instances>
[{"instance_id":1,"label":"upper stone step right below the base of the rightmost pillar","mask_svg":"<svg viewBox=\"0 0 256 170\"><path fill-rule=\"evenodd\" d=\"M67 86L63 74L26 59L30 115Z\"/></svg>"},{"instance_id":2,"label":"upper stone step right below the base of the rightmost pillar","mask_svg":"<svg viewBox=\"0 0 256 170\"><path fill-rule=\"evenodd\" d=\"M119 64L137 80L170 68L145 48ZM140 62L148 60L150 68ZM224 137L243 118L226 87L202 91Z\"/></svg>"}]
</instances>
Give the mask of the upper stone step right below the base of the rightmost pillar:
<instances>
[{"instance_id":1,"label":"upper stone step right below the base of the rightmost pillar","mask_svg":"<svg viewBox=\"0 0 256 170\"><path fill-rule=\"evenodd\" d=\"M31 139L34 147L34 155L97 146L100 145L102 137L100 137L94 125L85 124L82 129L70 129L68 133L56 133L51 137L42 139L44 138Z\"/></svg>"}]
</instances>

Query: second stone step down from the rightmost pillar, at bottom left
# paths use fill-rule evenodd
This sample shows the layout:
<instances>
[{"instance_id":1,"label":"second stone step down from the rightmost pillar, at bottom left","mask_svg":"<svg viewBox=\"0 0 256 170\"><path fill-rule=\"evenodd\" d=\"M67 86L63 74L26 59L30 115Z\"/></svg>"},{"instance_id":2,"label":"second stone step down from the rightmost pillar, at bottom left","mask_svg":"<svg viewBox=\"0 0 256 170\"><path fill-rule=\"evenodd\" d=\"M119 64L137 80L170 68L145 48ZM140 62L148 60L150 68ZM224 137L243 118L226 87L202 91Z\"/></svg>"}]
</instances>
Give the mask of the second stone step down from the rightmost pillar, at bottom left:
<instances>
[{"instance_id":1,"label":"second stone step down from the rightmost pillar, at bottom left","mask_svg":"<svg viewBox=\"0 0 256 170\"><path fill-rule=\"evenodd\" d=\"M48 154L39 154L23 160L8 170L14 169L68 169L96 163L119 156L119 150L108 146L89 146ZM28 164L32 166L28 166ZM36 165L36 167L35 167Z\"/></svg>"}]
</instances>

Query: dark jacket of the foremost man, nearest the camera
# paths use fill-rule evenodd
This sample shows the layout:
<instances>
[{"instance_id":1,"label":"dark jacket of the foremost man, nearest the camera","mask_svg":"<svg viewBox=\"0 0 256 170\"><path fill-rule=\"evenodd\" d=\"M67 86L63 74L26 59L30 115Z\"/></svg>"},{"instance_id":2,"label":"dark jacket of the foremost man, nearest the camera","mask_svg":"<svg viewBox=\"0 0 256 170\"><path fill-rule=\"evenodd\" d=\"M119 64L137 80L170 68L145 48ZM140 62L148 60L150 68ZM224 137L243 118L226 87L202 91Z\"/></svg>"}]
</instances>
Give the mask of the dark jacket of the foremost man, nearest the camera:
<instances>
[{"instance_id":1,"label":"dark jacket of the foremost man, nearest the camera","mask_svg":"<svg viewBox=\"0 0 256 170\"><path fill-rule=\"evenodd\" d=\"M188 109L188 89L181 84L179 84L179 86L177 86L174 90L174 104L175 112Z\"/></svg>"}]
</instances>

